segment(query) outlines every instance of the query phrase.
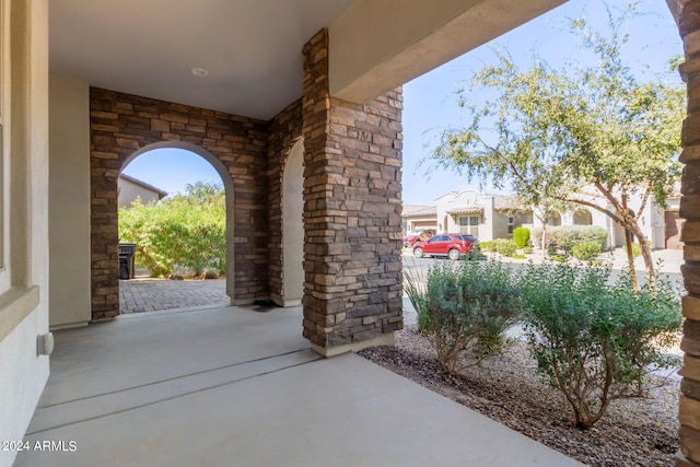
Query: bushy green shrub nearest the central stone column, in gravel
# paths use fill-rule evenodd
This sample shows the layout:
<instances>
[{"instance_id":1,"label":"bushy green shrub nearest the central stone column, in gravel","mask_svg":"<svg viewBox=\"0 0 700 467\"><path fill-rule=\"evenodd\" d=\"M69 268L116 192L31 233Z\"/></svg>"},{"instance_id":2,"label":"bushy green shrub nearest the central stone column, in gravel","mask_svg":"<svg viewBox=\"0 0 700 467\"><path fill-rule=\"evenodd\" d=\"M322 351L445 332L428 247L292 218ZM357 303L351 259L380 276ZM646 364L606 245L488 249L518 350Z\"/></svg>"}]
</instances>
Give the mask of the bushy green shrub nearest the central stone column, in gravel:
<instances>
[{"instance_id":1,"label":"bushy green shrub nearest the central stone column, in gravel","mask_svg":"<svg viewBox=\"0 0 700 467\"><path fill-rule=\"evenodd\" d=\"M419 329L444 372L456 374L503 351L504 331L521 310L512 271L500 261L438 262L425 278L406 270Z\"/></svg>"}]
</instances>

